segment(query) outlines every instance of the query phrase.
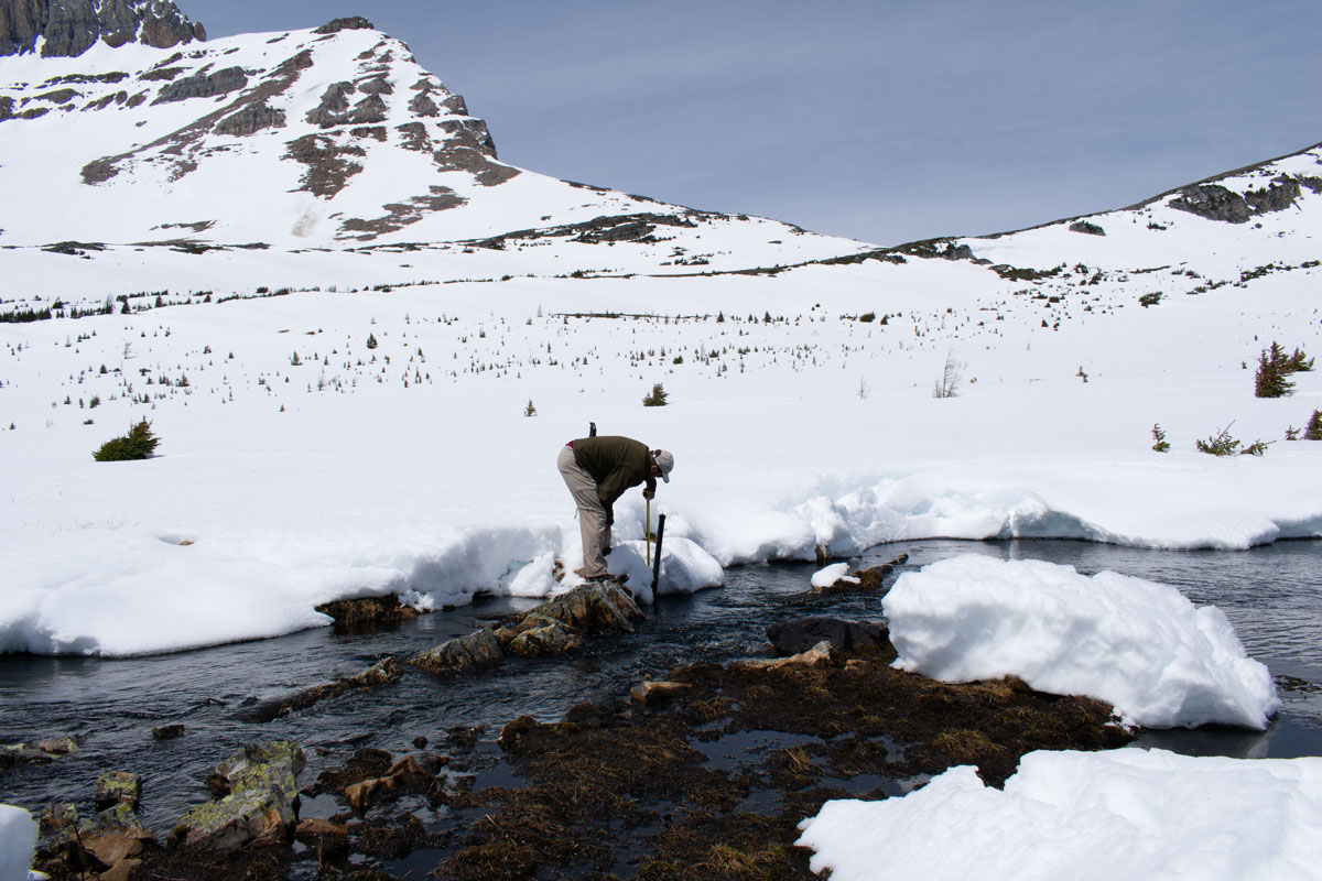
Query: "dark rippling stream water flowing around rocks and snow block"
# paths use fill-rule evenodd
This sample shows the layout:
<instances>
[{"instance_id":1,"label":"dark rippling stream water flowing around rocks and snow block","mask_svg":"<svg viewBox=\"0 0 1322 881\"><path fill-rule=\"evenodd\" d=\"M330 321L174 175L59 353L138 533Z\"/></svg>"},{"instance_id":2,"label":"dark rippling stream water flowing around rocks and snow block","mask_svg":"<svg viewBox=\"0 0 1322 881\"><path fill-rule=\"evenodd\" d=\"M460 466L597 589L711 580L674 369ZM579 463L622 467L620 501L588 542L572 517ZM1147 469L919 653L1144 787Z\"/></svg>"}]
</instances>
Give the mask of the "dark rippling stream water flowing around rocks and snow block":
<instances>
[{"instance_id":1,"label":"dark rippling stream water flowing around rocks and snow block","mask_svg":"<svg viewBox=\"0 0 1322 881\"><path fill-rule=\"evenodd\" d=\"M1285 708L1265 733L1158 733L1147 742L1194 754L1322 754L1322 542L1284 542L1247 552L1140 551L1084 542L915 542L874 548L853 563L875 565L900 552L910 553L908 569L968 552L1050 560L1089 575L1113 569L1174 585L1199 605L1215 604L1235 623L1249 654L1278 678ZM0 656L0 744L56 734L82 740L75 756L0 775L0 802L29 810L58 800L86 806L100 770L130 770L143 775L143 822L165 831L184 810L208 798L202 783L217 762L254 740L300 742L309 759L300 779L309 782L364 744L405 753L415 749L415 737L436 742L456 725L485 726L490 741L525 713L558 719L579 701L620 697L633 683L681 664L761 654L768 623L812 614L880 617L875 594L804 596L814 569L808 564L732 569L724 588L662 597L639 633L595 641L571 660L513 659L464 682L407 670L397 683L263 724L242 721L245 707L350 675L383 654L431 647L535 601L479 602L370 635L320 629L126 660ZM186 733L153 741L151 729L167 722L182 722Z\"/></svg>"}]
</instances>

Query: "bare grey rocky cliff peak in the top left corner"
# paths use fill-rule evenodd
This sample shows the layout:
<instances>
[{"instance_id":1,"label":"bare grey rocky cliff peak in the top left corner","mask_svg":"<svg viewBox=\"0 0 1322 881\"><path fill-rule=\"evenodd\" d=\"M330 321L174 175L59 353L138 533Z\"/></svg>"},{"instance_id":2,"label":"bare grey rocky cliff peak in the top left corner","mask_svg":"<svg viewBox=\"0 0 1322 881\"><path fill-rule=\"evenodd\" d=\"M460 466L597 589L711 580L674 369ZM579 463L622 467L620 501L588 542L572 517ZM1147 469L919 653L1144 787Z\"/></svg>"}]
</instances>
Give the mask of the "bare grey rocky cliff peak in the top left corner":
<instances>
[{"instance_id":1,"label":"bare grey rocky cliff peak in the top left corner","mask_svg":"<svg viewBox=\"0 0 1322 881\"><path fill-rule=\"evenodd\" d=\"M171 0L0 0L0 55L73 58L97 42L168 49L206 40Z\"/></svg>"}]
</instances>

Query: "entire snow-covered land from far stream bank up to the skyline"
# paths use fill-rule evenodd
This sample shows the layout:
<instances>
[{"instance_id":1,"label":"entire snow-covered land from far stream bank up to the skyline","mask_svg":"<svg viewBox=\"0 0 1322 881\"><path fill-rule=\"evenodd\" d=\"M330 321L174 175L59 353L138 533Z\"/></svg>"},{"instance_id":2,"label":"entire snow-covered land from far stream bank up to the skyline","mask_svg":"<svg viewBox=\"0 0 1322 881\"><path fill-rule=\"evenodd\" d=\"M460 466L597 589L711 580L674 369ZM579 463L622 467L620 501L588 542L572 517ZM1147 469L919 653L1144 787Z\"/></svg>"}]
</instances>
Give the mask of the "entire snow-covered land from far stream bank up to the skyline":
<instances>
[{"instance_id":1,"label":"entire snow-covered land from far stream bank up to the skyline","mask_svg":"<svg viewBox=\"0 0 1322 881\"><path fill-rule=\"evenodd\" d=\"M1270 342L1322 350L1322 145L882 248L504 164L361 20L189 34L0 57L0 651L271 635L319 623L313 594L551 592L578 531L550 453L590 420L676 450L668 536L722 565L1322 534L1317 444L1285 440L1322 374L1252 390ZM656 383L672 403L644 408ZM157 458L91 461L144 417ZM1231 425L1270 454L1194 452Z\"/></svg>"}]
</instances>

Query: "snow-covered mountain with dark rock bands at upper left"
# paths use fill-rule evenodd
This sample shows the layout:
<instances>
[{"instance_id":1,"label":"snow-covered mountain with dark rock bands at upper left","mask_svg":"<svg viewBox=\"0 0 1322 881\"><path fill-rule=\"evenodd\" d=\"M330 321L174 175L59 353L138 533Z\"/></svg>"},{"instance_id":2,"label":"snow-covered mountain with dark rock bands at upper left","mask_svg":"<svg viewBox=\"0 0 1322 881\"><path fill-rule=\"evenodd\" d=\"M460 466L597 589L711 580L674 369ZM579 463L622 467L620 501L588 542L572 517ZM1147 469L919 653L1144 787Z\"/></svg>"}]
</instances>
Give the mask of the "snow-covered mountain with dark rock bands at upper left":
<instances>
[{"instance_id":1,"label":"snow-covered mountain with dark rock bands at upper left","mask_svg":"<svg viewBox=\"0 0 1322 881\"><path fill-rule=\"evenodd\" d=\"M0 48L16 49L0 58L0 246L309 248L516 234L664 239L670 247L652 248L661 263L685 259L706 230L751 248L752 264L857 250L505 164L464 99L365 18L201 42L167 0L82 4L78 38L52 53L49 33L19 20L26 0L0 1ZM52 7L48 32L67 30L66 5ZM171 40L126 41L126 16Z\"/></svg>"}]
</instances>

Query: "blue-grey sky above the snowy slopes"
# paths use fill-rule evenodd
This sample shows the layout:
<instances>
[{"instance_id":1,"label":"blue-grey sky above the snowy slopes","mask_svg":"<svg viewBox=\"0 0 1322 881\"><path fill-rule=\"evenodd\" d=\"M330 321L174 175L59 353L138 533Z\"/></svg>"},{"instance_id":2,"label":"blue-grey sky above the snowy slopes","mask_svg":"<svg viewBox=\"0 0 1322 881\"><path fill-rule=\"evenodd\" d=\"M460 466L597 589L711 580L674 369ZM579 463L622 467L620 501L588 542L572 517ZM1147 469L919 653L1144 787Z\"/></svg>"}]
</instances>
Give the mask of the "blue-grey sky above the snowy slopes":
<instances>
[{"instance_id":1,"label":"blue-grey sky above the snowy slopes","mask_svg":"<svg viewBox=\"0 0 1322 881\"><path fill-rule=\"evenodd\" d=\"M501 159L878 244L1121 207L1322 141L1318 0L176 0L362 15Z\"/></svg>"}]
</instances>

